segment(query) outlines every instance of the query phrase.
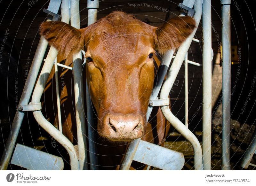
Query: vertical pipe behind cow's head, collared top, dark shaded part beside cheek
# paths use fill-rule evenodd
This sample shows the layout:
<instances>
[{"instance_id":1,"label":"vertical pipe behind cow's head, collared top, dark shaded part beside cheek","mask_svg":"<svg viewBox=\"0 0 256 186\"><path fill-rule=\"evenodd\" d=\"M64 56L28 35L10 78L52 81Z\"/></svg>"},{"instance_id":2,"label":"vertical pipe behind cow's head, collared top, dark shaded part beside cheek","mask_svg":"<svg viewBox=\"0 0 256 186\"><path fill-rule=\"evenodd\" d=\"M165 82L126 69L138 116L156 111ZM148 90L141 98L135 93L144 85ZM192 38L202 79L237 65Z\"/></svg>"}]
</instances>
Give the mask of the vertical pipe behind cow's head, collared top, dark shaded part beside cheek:
<instances>
[{"instance_id":1,"label":"vertical pipe behind cow's head, collared top, dark shaded part beside cheek","mask_svg":"<svg viewBox=\"0 0 256 186\"><path fill-rule=\"evenodd\" d=\"M87 0L88 8L88 26L97 21L97 8L99 8L98 0ZM95 128L93 123L93 110L92 101L90 97L90 89L86 81L86 112L87 112L87 127L88 127L88 144L89 144L89 158L90 158L90 169L97 170L98 156L96 149L95 139Z\"/></svg>"}]
</instances>

